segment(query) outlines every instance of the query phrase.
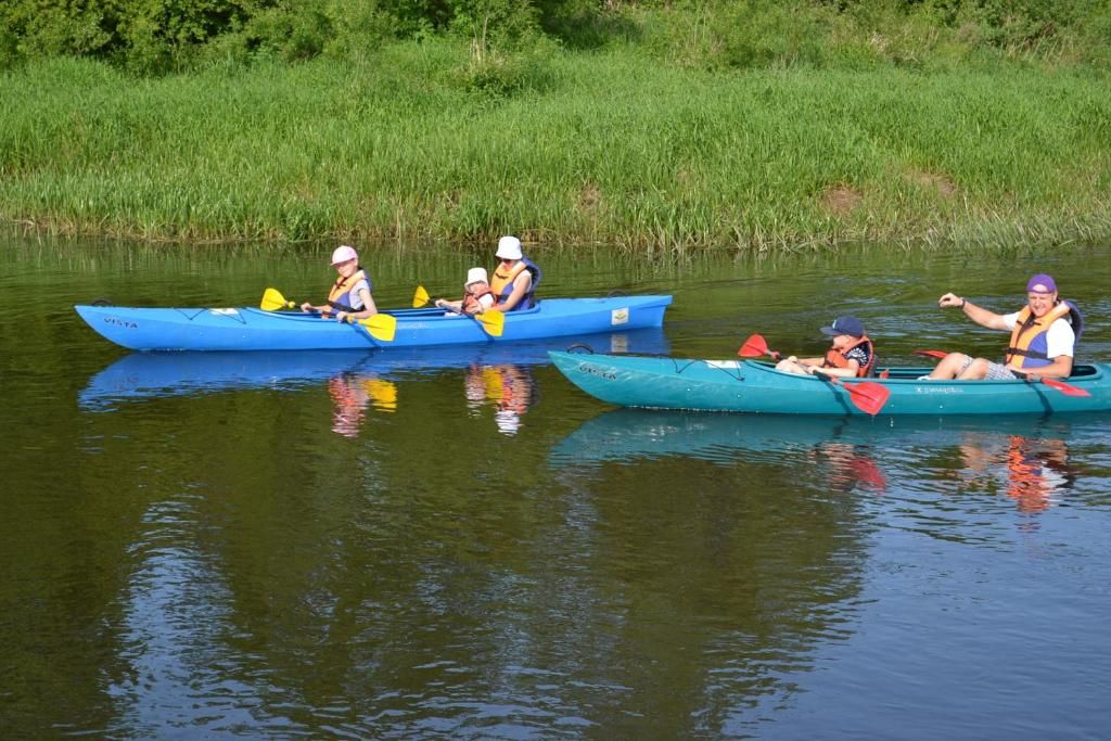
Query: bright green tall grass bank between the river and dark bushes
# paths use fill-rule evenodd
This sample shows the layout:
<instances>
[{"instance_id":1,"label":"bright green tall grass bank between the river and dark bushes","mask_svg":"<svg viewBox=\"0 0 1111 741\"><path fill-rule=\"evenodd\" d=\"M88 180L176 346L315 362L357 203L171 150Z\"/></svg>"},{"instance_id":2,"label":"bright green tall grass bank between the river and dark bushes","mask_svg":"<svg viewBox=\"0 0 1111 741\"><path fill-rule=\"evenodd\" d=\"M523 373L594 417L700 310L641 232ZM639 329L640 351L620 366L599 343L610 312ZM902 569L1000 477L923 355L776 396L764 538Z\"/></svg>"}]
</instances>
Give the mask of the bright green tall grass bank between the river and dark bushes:
<instances>
[{"instance_id":1,"label":"bright green tall grass bank between the river and dark bushes","mask_svg":"<svg viewBox=\"0 0 1111 741\"><path fill-rule=\"evenodd\" d=\"M150 240L635 250L1111 236L1105 73L712 71L457 41L157 79L0 74L0 218ZM487 68L489 69L489 68Z\"/></svg>"}]
</instances>

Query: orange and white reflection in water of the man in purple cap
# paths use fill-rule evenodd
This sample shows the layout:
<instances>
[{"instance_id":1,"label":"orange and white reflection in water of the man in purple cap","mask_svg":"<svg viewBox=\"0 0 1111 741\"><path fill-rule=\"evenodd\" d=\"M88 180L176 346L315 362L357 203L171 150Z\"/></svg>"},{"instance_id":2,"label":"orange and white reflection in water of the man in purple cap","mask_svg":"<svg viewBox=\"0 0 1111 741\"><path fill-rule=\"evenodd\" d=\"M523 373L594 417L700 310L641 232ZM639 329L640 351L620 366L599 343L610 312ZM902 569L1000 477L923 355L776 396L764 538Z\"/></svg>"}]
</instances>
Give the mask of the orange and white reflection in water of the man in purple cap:
<instances>
[{"instance_id":1,"label":"orange and white reflection in water of the man in purple cap","mask_svg":"<svg viewBox=\"0 0 1111 741\"><path fill-rule=\"evenodd\" d=\"M1013 499L1020 512L1037 513L1055 503L1058 495L1072 488L1077 477L1069 467L1069 449L1059 438L1007 437L1005 448L999 438L990 442L970 435L961 443L961 455L967 469L988 474L1004 472L1007 495Z\"/></svg>"}]
</instances>

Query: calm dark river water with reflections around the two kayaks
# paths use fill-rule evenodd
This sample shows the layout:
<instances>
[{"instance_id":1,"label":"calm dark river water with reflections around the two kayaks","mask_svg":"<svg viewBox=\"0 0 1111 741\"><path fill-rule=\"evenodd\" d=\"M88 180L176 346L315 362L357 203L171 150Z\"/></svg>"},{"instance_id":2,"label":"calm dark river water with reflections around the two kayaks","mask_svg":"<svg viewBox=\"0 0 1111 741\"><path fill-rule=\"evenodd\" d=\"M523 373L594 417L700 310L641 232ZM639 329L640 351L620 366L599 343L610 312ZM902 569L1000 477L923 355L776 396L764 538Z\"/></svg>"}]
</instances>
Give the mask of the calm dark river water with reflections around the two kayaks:
<instances>
[{"instance_id":1,"label":"calm dark river water with reflections around the two kayaks","mask_svg":"<svg viewBox=\"0 0 1111 741\"><path fill-rule=\"evenodd\" d=\"M612 410L543 346L130 354L71 308L320 300L331 247L0 238L6 738L1104 738L1111 415ZM995 356L937 297L1047 271L1111 362L1111 246L536 257L542 294L674 294L595 350L853 313L883 362ZM363 262L406 306L482 260Z\"/></svg>"}]
</instances>

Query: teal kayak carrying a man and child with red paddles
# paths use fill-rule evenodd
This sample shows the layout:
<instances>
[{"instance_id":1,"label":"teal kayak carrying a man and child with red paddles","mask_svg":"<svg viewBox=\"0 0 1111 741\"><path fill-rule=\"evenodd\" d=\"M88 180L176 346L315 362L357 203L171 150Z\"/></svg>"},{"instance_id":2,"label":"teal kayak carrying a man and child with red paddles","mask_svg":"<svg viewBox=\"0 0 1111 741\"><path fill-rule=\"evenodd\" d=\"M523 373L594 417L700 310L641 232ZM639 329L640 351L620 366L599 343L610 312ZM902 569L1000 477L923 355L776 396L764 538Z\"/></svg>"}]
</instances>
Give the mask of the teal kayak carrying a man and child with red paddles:
<instances>
[{"instance_id":1,"label":"teal kayak carrying a man and child with red paddles","mask_svg":"<svg viewBox=\"0 0 1111 741\"><path fill-rule=\"evenodd\" d=\"M592 397L620 407L755 414L865 414L845 387L777 371L758 360L551 352L552 362ZM1067 391L1047 383L919 380L929 368L893 368L868 379L887 390L880 414L1045 414L1111 410L1111 367L1078 366ZM858 385L857 389L864 388ZM1080 395L1078 392L1087 392ZM1077 395L1074 395L1077 394Z\"/></svg>"}]
</instances>

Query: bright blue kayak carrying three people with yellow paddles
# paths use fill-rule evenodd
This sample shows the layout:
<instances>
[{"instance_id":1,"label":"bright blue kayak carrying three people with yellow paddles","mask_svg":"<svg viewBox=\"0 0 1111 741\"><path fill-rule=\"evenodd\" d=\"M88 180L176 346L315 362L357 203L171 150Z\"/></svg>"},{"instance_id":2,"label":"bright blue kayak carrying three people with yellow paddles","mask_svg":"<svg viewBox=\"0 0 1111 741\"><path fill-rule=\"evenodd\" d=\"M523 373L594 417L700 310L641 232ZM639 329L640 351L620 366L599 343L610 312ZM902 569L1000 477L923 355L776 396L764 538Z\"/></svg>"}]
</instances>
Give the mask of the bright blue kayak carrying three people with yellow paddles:
<instances>
[{"instance_id":1,"label":"bright blue kayak carrying three people with yellow paddles","mask_svg":"<svg viewBox=\"0 0 1111 741\"><path fill-rule=\"evenodd\" d=\"M360 324L341 324L301 312L236 309L147 309L77 306L81 318L108 340L131 350L352 350L519 342L573 334L660 327L670 296L544 299L506 314L501 337L469 317L441 309L389 311L397 319L390 341Z\"/></svg>"}]
</instances>

